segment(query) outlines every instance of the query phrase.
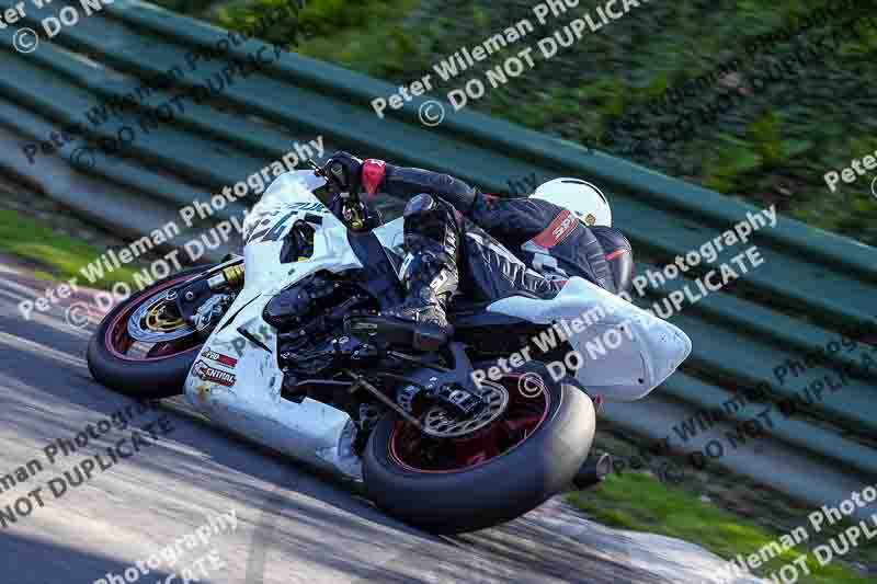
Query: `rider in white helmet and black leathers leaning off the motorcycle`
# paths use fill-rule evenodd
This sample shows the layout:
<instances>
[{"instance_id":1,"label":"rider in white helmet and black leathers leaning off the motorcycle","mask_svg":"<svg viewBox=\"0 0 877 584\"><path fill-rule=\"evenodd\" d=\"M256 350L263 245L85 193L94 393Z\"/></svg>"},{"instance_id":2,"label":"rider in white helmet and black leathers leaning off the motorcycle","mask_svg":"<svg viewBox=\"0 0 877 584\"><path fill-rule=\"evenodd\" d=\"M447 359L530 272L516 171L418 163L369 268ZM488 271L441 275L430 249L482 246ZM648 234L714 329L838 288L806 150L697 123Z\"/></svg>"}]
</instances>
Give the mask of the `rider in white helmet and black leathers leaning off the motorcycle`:
<instances>
[{"instance_id":1,"label":"rider in white helmet and black leathers leaning off the motorcycle","mask_svg":"<svg viewBox=\"0 0 877 584\"><path fill-rule=\"evenodd\" d=\"M606 197L585 181L555 179L529 197L504 198L447 174L348 152L334 153L326 168L349 191L408 199L399 274L406 300L377 317L381 336L437 348L452 332L445 309L460 285L476 300L549 298L571 276L614 294L630 287L630 243L612 227Z\"/></svg>"}]
</instances>

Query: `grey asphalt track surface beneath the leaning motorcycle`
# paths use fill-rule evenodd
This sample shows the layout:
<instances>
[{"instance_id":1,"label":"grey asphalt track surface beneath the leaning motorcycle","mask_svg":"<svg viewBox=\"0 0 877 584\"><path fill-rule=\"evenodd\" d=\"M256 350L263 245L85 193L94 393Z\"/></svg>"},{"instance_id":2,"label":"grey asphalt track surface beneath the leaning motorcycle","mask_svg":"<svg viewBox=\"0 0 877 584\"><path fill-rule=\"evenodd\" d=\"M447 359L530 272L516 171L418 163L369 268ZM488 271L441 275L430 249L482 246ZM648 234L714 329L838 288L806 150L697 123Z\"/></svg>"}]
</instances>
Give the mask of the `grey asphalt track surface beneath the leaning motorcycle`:
<instances>
[{"instance_id":1,"label":"grey asphalt track surface beneath the leaning motorcycle","mask_svg":"<svg viewBox=\"0 0 877 584\"><path fill-rule=\"evenodd\" d=\"M33 507L0 528L0 582L132 582L124 580L126 569L161 557L174 542L175 562L163 561L149 574L138 572L134 581L719 582L721 562L701 548L605 528L560 499L492 529L430 536L387 517L354 486L212 425L181 399L166 400L133 422L143 428L166 417L170 433L149 436L148 447L132 449L129 458L95 470L90 480L55 497L52 479L64 471L73 474L77 465L122 438L129 439L130 449L132 428L113 427L54 465L43 449L58 438L72 440L89 424L134 402L91 378L84 354L94 323L78 329L65 320L71 302L91 301L88 293L31 320L22 317L19 302L46 288L31 274L31 266L0 257L0 477L33 459L43 465L42 471L0 492L0 512L7 505L14 512L22 497ZM43 506L27 495L37 488ZM19 505L27 512L27 505ZM229 522L195 541L198 527L231 511L236 528Z\"/></svg>"}]
</instances>

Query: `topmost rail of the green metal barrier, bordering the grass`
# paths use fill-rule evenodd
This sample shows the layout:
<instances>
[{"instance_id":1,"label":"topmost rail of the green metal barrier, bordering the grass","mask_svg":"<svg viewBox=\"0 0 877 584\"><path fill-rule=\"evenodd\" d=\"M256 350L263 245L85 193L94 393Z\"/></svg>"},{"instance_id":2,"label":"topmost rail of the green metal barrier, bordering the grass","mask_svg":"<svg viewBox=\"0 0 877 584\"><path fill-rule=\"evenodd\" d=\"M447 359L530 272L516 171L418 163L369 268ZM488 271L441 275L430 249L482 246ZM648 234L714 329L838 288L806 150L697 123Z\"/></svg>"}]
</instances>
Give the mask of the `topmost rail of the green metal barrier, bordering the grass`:
<instances>
[{"instance_id":1,"label":"topmost rail of the green metal barrier, bordering the grass","mask_svg":"<svg viewBox=\"0 0 877 584\"><path fill-rule=\"evenodd\" d=\"M168 18L168 13L146 9L139 2L116 2L109 7L109 12L124 22L185 39L193 45L210 46L225 36L224 32L204 26L203 23L195 24L197 21L178 15ZM297 82L296 84L322 89L364 105L371 104L376 96L386 96L397 90L389 83L295 54L286 55L271 69L280 77ZM418 123L418 107L425 100L426 98L415 98L395 114L401 112L409 121ZM535 158L549 168L578 168L580 174L599 176L614 185L661 201L667 206L709 218L719 225L738 221L741 210L758 210L751 205L732 202L713 191L650 172L624 160L608 157L593 159L586 149L572 142L477 113L452 115L440 127L448 134L469 136L481 146L511 152L516 158ZM786 220L777 227L768 238L791 249L807 250L818 257L838 262L839 265L847 266L863 277L877 282L877 257L869 247L854 242L851 247L851 241L846 238L815 230L793 220Z\"/></svg>"}]
</instances>

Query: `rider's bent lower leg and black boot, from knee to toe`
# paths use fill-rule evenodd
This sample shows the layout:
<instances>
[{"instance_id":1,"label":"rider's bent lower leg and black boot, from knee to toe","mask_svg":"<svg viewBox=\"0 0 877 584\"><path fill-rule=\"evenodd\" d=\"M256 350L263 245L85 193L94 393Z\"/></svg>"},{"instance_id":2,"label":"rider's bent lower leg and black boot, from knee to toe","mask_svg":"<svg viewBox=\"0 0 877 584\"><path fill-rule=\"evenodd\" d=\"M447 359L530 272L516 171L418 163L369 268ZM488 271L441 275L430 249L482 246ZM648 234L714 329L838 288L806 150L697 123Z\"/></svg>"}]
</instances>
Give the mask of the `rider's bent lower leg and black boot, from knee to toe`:
<instances>
[{"instance_id":1,"label":"rider's bent lower leg and black boot, from knee to toe","mask_svg":"<svg viewBox=\"0 0 877 584\"><path fill-rule=\"evenodd\" d=\"M459 226L454 208L430 195L412 198L405 210L408 254L399 277L406 289L400 306L372 318L355 319L350 332L367 334L379 343L435 351L453 329L445 310L459 284L457 247Z\"/></svg>"}]
</instances>

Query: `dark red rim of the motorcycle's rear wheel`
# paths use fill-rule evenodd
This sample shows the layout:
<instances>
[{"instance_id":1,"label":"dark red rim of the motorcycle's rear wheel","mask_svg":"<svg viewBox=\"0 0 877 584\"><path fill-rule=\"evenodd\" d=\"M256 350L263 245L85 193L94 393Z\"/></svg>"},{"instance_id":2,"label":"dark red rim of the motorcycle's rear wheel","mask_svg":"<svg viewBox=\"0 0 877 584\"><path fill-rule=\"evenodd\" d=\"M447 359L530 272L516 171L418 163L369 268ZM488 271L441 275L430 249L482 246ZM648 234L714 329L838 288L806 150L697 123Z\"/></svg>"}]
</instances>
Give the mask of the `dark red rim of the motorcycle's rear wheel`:
<instances>
[{"instance_id":1,"label":"dark red rim of the motorcycle's rear wheel","mask_svg":"<svg viewBox=\"0 0 877 584\"><path fill-rule=\"evenodd\" d=\"M533 437L551 406L546 389L535 397L523 393L521 377L505 375L499 380L509 391L509 406L499 420L470 438L438 442L411 424L396 422L389 439L390 458L412 472L447 474L469 471L508 455Z\"/></svg>"}]
</instances>

